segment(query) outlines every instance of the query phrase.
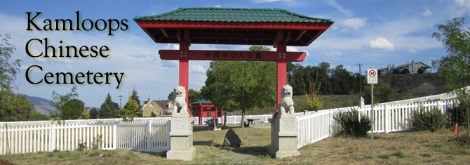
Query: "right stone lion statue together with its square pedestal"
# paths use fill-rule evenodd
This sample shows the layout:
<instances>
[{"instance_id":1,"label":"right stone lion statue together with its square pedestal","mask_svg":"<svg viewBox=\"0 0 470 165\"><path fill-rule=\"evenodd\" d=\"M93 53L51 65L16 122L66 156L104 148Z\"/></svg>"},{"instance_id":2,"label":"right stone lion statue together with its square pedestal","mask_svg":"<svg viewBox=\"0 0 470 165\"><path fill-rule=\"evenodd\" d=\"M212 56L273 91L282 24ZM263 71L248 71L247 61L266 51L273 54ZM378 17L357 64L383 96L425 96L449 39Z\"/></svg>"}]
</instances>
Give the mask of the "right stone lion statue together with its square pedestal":
<instances>
[{"instance_id":1,"label":"right stone lion statue together with its square pedestal","mask_svg":"<svg viewBox=\"0 0 470 165\"><path fill-rule=\"evenodd\" d=\"M292 86L283 86L281 104L278 105L276 119L271 123L271 148L269 153L278 159L299 156L297 151L297 119L295 119Z\"/></svg>"}]
</instances>

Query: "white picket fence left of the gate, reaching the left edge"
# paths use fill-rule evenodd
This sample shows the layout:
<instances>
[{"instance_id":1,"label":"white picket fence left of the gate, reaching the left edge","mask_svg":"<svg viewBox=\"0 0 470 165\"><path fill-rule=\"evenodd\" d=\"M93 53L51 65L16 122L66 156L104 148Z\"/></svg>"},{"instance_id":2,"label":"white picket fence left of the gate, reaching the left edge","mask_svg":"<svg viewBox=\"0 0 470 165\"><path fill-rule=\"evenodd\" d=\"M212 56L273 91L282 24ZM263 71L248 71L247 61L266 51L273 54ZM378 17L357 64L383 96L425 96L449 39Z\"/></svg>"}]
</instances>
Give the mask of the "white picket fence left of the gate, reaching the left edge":
<instances>
[{"instance_id":1,"label":"white picket fence left of the gate, reaching the left edge","mask_svg":"<svg viewBox=\"0 0 470 165\"><path fill-rule=\"evenodd\" d=\"M91 148L93 143L102 150L164 152L170 150L169 132L170 121L4 126L0 128L0 154L72 151L79 144Z\"/></svg>"}]
</instances>

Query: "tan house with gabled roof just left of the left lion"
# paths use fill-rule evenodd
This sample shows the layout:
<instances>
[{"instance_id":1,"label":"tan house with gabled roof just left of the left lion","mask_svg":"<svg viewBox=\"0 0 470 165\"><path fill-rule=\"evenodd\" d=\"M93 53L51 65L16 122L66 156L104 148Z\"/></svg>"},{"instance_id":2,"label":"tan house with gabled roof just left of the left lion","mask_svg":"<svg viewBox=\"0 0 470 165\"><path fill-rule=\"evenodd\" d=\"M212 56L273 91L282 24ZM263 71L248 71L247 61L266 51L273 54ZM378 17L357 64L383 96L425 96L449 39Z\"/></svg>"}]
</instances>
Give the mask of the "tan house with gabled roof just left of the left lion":
<instances>
[{"instance_id":1,"label":"tan house with gabled roof just left of the left lion","mask_svg":"<svg viewBox=\"0 0 470 165\"><path fill-rule=\"evenodd\" d=\"M152 112L157 117L161 115L170 115L173 112L173 101L171 100L147 100L144 101L144 106L140 109L142 117L152 116Z\"/></svg>"}]
</instances>

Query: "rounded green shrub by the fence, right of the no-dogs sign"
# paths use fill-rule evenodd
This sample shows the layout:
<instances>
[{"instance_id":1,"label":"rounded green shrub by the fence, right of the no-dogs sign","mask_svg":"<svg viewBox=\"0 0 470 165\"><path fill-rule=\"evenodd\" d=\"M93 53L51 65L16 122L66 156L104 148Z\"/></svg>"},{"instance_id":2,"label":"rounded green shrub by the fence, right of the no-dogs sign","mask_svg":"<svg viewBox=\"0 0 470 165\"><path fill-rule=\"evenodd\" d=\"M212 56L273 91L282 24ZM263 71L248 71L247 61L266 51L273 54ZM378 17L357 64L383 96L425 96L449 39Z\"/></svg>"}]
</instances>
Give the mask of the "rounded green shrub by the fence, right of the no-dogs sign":
<instances>
[{"instance_id":1,"label":"rounded green shrub by the fence, right of the no-dogs sign","mask_svg":"<svg viewBox=\"0 0 470 165\"><path fill-rule=\"evenodd\" d=\"M413 112L411 121L416 131L434 132L444 126L443 115L438 107L432 107L431 110L428 107L419 107L419 110Z\"/></svg>"}]
</instances>

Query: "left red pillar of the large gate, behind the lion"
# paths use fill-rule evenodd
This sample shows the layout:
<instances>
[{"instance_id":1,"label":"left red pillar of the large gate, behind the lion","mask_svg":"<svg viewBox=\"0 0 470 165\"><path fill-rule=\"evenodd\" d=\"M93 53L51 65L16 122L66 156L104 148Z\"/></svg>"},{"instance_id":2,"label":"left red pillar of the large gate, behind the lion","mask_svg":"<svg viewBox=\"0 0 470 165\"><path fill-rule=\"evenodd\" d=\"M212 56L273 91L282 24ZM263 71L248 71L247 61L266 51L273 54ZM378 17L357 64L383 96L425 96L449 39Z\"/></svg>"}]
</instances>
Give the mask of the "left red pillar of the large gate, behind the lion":
<instances>
[{"instance_id":1,"label":"left red pillar of the large gate, behind the lion","mask_svg":"<svg viewBox=\"0 0 470 165\"><path fill-rule=\"evenodd\" d=\"M186 90L186 105L188 105L188 113L189 111L189 60L186 58L186 53L184 51L189 50L189 43L187 41L180 41L180 51L182 51L181 57L180 57L180 86L183 86L184 89ZM189 117L191 117L191 114L189 113Z\"/></svg>"}]
</instances>

